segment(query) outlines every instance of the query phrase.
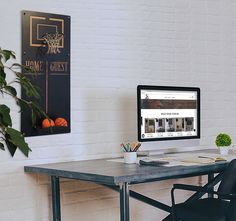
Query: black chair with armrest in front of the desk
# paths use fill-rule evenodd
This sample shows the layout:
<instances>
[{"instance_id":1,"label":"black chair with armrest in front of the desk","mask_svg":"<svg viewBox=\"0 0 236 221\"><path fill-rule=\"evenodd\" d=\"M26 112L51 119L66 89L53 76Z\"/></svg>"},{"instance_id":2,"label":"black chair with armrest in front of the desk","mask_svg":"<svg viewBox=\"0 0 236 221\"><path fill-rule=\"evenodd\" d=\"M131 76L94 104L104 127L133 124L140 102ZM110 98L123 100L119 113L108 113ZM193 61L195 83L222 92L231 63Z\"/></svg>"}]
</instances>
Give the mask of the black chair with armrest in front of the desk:
<instances>
[{"instance_id":1,"label":"black chair with armrest in front of the desk","mask_svg":"<svg viewBox=\"0 0 236 221\"><path fill-rule=\"evenodd\" d=\"M215 194L217 198L175 204L176 189ZM236 221L236 159L226 168L217 191L201 186L174 184L171 199L174 221Z\"/></svg>"}]
</instances>

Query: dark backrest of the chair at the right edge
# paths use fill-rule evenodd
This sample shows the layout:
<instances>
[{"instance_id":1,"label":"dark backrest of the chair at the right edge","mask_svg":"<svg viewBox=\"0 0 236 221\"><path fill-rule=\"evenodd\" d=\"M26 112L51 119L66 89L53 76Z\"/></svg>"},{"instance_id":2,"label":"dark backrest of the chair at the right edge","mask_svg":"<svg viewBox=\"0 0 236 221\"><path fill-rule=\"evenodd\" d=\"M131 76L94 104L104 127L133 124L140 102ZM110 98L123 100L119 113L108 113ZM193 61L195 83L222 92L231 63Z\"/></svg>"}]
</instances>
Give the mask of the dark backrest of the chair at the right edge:
<instances>
[{"instance_id":1,"label":"dark backrest of the chair at the right edge","mask_svg":"<svg viewBox=\"0 0 236 221\"><path fill-rule=\"evenodd\" d=\"M236 159L226 168L218 191L225 194L236 193Z\"/></svg>"}]
</instances>

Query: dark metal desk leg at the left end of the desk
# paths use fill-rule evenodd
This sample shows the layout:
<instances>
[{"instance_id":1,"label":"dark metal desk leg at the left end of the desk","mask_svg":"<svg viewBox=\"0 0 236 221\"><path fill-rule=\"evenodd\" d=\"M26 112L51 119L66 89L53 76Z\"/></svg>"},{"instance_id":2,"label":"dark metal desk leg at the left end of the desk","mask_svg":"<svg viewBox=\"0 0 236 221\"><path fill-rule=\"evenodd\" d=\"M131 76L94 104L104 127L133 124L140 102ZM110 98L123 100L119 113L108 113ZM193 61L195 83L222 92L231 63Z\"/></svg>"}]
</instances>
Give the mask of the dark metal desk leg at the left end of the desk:
<instances>
[{"instance_id":1,"label":"dark metal desk leg at the left end of the desk","mask_svg":"<svg viewBox=\"0 0 236 221\"><path fill-rule=\"evenodd\" d=\"M52 185L52 213L53 221L61 221L61 204L60 204L60 181L59 177L51 177Z\"/></svg>"}]
</instances>

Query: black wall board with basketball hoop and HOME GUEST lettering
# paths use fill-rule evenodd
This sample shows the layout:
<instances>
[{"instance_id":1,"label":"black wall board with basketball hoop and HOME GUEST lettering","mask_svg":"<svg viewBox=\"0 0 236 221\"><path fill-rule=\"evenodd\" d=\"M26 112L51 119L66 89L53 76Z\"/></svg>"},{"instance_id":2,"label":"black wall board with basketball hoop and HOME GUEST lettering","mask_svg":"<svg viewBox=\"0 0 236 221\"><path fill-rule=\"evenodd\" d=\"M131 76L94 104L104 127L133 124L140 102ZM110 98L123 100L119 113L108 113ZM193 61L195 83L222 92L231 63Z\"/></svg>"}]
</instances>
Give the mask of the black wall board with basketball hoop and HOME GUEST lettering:
<instances>
[{"instance_id":1,"label":"black wall board with basketball hoop and HOME GUEST lettering","mask_svg":"<svg viewBox=\"0 0 236 221\"><path fill-rule=\"evenodd\" d=\"M21 114L26 136L70 132L70 16L33 11L22 12L22 64L35 73L25 73L41 90L40 105L55 120L67 126L42 128L43 118L32 127L30 110ZM22 92L22 97L25 94Z\"/></svg>"}]
</instances>

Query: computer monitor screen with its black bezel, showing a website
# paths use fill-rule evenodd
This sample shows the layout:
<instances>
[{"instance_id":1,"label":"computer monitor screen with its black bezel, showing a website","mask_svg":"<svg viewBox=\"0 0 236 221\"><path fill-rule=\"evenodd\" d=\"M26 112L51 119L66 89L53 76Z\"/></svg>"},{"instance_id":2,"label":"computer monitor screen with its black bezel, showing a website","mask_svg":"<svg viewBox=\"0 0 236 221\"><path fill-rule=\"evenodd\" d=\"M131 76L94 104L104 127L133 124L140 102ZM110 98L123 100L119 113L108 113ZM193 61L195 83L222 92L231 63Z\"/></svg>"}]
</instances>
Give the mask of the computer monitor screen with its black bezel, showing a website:
<instances>
[{"instance_id":1,"label":"computer monitor screen with its black bezel, showing a website","mask_svg":"<svg viewBox=\"0 0 236 221\"><path fill-rule=\"evenodd\" d=\"M200 88L139 85L138 140L200 138Z\"/></svg>"}]
</instances>

